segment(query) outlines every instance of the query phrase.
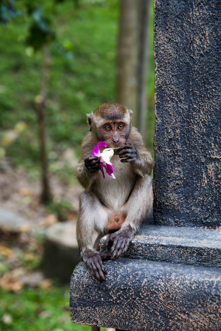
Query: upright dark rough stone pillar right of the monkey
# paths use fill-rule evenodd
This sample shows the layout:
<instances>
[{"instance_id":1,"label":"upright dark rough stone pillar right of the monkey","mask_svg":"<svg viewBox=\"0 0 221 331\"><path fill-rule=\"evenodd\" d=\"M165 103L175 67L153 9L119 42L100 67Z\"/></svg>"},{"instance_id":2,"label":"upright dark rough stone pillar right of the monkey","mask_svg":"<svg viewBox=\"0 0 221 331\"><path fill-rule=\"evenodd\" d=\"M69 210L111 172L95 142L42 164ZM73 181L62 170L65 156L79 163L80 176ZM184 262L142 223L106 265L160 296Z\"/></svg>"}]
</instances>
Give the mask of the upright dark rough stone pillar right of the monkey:
<instances>
[{"instance_id":1,"label":"upright dark rough stone pillar right of the monkey","mask_svg":"<svg viewBox=\"0 0 221 331\"><path fill-rule=\"evenodd\" d=\"M154 220L221 223L221 2L154 1Z\"/></svg>"}]
</instances>

